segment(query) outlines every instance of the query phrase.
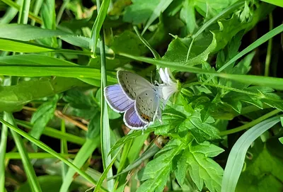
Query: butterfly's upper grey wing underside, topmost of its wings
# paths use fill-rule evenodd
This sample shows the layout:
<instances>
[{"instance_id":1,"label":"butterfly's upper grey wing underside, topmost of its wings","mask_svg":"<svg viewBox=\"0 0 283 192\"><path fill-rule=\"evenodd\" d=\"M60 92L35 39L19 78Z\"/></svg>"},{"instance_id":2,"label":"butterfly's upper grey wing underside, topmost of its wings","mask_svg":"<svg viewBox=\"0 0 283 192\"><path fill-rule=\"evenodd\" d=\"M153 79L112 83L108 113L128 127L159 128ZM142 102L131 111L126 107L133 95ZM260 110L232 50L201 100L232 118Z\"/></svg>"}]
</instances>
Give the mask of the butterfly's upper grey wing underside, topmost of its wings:
<instances>
[{"instance_id":1,"label":"butterfly's upper grey wing underside, topmost of its wings","mask_svg":"<svg viewBox=\"0 0 283 192\"><path fill-rule=\"evenodd\" d=\"M124 93L132 100L135 100L144 91L154 89L154 86L144 77L140 77L132 72L120 70L117 72L117 79Z\"/></svg>"}]
</instances>

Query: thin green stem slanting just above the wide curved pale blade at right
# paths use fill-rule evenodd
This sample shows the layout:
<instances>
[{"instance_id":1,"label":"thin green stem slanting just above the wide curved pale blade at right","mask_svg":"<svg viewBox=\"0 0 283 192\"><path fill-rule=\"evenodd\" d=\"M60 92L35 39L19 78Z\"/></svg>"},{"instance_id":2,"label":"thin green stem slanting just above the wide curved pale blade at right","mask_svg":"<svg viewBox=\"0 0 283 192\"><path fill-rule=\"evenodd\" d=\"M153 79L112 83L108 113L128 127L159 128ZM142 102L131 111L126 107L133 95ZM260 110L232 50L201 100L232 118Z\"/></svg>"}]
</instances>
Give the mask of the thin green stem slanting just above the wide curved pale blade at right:
<instances>
[{"instance_id":1,"label":"thin green stem slanting just above the wide curved pale blade at right","mask_svg":"<svg viewBox=\"0 0 283 192\"><path fill-rule=\"evenodd\" d=\"M267 118L272 117L273 115L276 115L277 113L279 113L280 111L278 109L275 109L274 111L271 111L270 113L266 113L265 115L262 115L260 118L257 118L253 121L251 121L250 123L247 123L245 125L241 125L238 128L234 128L231 130L225 130L219 133L219 135L224 136L224 135L229 135L235 132L240 132L242 130L246 130L248 128L253 127L254 125L257 125L258 123L262 122L262 120L265 120Z\"/></svg>"}]
</instances>

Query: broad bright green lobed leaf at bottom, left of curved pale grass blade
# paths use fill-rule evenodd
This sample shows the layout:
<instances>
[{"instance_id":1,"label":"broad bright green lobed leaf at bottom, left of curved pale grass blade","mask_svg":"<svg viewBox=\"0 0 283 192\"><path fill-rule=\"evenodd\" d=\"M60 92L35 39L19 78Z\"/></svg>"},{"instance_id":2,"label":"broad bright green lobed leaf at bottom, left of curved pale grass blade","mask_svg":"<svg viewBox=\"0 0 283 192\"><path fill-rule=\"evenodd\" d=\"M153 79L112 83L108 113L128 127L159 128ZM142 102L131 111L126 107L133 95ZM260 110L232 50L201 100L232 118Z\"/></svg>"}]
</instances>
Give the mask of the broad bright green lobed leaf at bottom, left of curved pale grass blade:
<instances>
[{"instance_id":1,"label":"broad bright green lobed leaf at bottom, left of curved pale grass blade","mask_svg":"<svg viewBox=\"0 0 283 192\"><path fill-rule=\"evenodd\" d=\"M215 157L221 152L224 152L224 149L209 142L202 144L190 142L178 160L176 170L178 183L183 185L188 170L192 181L195 182L200 191L203 184L209 191L220 191L223 169L209 157Z\"/></svg>"}]
</instances>

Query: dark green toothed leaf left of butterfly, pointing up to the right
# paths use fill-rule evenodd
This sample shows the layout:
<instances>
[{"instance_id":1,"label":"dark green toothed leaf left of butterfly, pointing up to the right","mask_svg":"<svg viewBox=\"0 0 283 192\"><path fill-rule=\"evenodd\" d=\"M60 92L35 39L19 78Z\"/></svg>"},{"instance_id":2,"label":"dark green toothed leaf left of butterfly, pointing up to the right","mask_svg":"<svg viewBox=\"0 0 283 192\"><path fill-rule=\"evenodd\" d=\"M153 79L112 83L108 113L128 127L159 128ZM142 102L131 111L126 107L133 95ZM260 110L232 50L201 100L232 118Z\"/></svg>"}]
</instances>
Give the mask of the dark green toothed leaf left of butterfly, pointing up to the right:
<instances>
[{"instance_id":1,"label":"dark green toothed leaf left of butterfly, pointing up to the right","mask_svg":"<svg viewBox=\"0 0 283 192\"><path fill-rule=\"evenodd\" d=\"M30 131L30 135L36 139L40 138L47 123L54 117L54 112L56 110L57 101L59 96L55 95L51 101L43 103L37 111L33 113L30 123L33 124L33 129Z\"/></svg>"}]
</instances>

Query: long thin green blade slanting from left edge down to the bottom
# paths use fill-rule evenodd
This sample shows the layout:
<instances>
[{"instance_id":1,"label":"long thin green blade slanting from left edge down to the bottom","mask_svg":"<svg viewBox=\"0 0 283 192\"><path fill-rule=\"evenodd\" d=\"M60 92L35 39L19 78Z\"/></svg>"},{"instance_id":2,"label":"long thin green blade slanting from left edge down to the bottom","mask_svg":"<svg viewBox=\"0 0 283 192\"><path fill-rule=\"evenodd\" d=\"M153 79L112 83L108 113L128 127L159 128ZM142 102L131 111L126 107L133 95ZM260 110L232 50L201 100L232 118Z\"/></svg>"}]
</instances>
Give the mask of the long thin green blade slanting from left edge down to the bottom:
<instances>
[{"instance_id":1,"label":"long thin green blade slanting from left edge down to the bottom","mask_svg":"<svg viewBox=\"0 0 283 192\"><path fill-rule=\"evenodd\" d=\"M6 122L6 120L4 120L3 118L0 118L0 123L6 125L8 128L11 128L12 130L14 130L15 132L18 132L18 134L20 134L21 136L25 137L27 140L29 140L30 142L33 142L35 145L37 145L37 147L40 147L41 149L45 150L46 152L52 154L54 157L57 157L58 159L60 159L62 162L64 162L65 164L67 164L71 169L74 169L76 172L78 172L78 174L80 174L81 176L83 176L83 178L85 178L87 181L93 183L94 185L96 184L96 181L94 181L91 176L89 176L88 174L86 174L84 171L81 171L81 169L79 169L78 167L76 167L74 164L72 164L71 162L69 162L67 159L65 159L64 157L62 157L61 154L58 154L57 152L55 152L53 149L51 149L50 147L48 147L47 145L45 145L43 142L41 142L40 140L36 140L35 138L31 137L30 135L28 135L28 133L24 132L23 130L14 127L13 125L11 125L10 123Z\"/></svg>"}]
</instances>

